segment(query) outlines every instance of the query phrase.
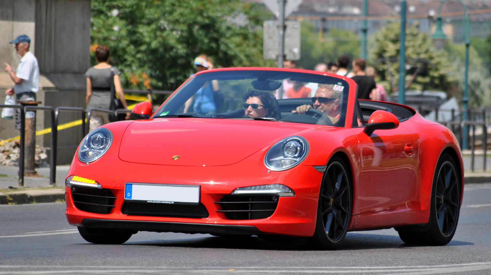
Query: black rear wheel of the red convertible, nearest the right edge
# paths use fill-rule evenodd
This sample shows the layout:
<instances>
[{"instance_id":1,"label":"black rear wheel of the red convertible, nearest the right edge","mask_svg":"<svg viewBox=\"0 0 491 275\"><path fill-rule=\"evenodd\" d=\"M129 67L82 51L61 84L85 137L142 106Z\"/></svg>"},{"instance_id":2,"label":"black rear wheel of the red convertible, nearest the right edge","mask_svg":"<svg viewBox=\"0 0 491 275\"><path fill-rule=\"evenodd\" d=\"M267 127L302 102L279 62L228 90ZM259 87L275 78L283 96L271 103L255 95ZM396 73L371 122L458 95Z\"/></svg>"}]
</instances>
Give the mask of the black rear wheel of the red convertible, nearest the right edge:
<instances>
[{"instance_id":1,"label":"black rear wheel of the red convertible, nearest the right edge","mask_svg":"<svg viewBox=\"0 0 491 275\"><path fill-rule=\"evenodd\" d=\"M401 240L410 245L444 246L457 229L460 212L461 177L453 158L444 153L436 164L430 200L430 220L421 230L403 226Z\"/></svg>"}]
</instances>

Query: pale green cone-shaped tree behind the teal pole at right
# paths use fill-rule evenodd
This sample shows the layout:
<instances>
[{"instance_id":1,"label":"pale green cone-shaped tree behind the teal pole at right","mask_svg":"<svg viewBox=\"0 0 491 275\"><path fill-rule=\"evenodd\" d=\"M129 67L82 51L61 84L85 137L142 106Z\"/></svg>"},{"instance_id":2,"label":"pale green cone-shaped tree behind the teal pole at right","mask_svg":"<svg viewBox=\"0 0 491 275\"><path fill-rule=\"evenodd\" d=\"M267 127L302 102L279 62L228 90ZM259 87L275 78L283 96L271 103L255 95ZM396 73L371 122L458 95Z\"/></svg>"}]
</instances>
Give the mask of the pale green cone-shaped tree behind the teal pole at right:
<instances>
[{"instance_id":1,"label":"pale green cone-shaped tree behind the teal pole at right","mask_svg":"<svg viewBox=\"0 0 491 275\"><path fill-rule=\"evenodd\" d=\"M377 83L384 85L387 91L397 90L399 85L400 30L398 22L386 25L375 35L375 48L371 52L380 77ZM409 90L449 91L455 82L455 77L449 75L453 68L448 53L433 50L429 35L419 32L418 25L406 28L406 65L406 83L420 67Z\"/></svg>"}]
</instances>

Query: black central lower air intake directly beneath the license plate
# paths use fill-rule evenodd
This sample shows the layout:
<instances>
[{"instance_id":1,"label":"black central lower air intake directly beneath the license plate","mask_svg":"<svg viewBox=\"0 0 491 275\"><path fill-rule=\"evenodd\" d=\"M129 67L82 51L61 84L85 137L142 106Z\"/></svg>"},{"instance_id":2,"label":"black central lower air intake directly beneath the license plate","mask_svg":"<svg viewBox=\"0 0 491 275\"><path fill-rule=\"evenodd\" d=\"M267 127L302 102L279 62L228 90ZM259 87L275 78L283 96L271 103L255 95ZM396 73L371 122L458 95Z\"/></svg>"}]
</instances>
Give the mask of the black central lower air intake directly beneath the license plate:
<instances>
[{"instance_id":1,"label":"black central lower air intake directly beneath the license plate","mask_svg":"<svg viewBox=\"0 0 491 275\"><path fill-rule=\"evenodd\" d=\"M135 216L173 217L173 218L208 218L206 207L199 203L192 204L166 204L125 201L121 213Z\"/></svg>"}]
</instances>

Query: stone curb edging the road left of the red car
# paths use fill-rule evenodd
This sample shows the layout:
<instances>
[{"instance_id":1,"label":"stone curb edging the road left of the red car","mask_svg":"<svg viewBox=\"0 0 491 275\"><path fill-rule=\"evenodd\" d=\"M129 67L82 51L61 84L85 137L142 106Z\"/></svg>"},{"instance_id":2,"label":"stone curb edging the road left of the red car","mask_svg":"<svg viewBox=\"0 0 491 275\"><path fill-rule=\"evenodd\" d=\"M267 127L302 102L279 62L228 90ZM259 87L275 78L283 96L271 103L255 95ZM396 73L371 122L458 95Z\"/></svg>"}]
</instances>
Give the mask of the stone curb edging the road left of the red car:
<instances>
[{"instance_id":1,"label":"stone curb edging the road left of the red car","mask_svg":"<svg viewBox=\"0 0 491 275\"><path fill-rule=\"evenodd\" d=\"M64 190L28 190L0 194L0 204L26 204L64 200Z\"/></svg>"}]
</instances>

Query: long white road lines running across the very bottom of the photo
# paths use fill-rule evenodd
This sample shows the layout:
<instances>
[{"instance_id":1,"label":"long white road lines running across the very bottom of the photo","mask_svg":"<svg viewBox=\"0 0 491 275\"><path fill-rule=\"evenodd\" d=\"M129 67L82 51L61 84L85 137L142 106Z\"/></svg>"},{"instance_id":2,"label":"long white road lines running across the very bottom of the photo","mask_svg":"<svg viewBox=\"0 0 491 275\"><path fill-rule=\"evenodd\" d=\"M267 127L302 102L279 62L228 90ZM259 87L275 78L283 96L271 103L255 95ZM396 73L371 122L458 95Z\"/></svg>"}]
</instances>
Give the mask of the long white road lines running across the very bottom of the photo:
<instances>
[{"instance_id":1,"label":"long white road lines running across the very bottom of the photo","mask_svg":"<svg viewBox=\"0 0 491 275\"><path fill-rule=\"evenodd\" d=\"M381 273L384 275L431 275L449 274L456 272L469 272L491 269L491 262L485 263L464 263L434 266L391 266L391 267L199 267L199 268L178 268L178 267L136 267L136 266L0 266L0 270L16 268L30 268L30 271L1 271L2 274L114 274L124 272L125 274L157 273L170 272L173 274L198 273L198 274L220 274L228 273L233 269L234 273L245 274L347 274L347 273ZM56 270L35 270L32 269L56 269ZM60 268L64 270L59 270ZM387 274L392 272L391 274Z\"/></svg>"}]
</instances>

